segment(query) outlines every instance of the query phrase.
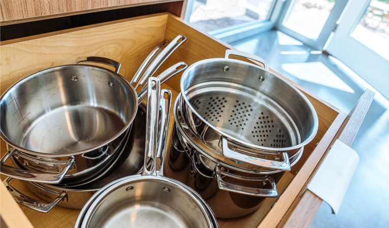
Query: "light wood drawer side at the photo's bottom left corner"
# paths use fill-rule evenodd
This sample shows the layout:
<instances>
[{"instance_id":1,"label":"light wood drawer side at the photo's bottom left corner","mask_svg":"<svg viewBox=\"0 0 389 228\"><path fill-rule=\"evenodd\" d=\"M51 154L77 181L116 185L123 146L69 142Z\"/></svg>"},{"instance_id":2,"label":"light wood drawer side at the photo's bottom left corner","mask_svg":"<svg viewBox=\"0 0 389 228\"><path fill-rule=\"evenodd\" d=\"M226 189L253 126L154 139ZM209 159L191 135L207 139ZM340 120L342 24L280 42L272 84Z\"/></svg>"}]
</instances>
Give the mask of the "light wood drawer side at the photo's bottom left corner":
<instances>
[{"instance_id":1,"label":"light wood drawer side at the photo's bottom left corner","mask_svg":"<svg viewBox=\"0 0 389 228\"><path fill-rule=\"evenodd\" d=\"M0 183L0 216L9 228L33 227L3 182Z\"/></svg>"}]
</instances>

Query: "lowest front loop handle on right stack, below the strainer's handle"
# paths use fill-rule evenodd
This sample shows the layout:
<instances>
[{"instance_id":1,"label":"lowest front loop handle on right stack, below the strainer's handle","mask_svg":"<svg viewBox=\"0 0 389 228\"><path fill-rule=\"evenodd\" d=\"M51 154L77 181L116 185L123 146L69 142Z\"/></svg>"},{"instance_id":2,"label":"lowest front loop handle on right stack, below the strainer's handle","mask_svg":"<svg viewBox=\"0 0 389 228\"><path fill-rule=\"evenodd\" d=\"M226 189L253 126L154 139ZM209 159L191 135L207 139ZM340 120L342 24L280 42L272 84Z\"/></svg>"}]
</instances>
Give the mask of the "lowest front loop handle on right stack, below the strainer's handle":
<instances>
[{"instance_id":1,"label":"lowest front loop handle on right stack, below the strainer's handle","mask_svg":"<svg viewBox=\"0 0 389 228\"><path fill-rule=\"evenodd\" d=\"M249 196L257 196L257 197L273 197L273 198L278 197L276 183L274 181L274 178L270 175L264 178L241 177L228 172L223 172L220 170L219 166L215 167L215 175L216 175L216 181L218 187L225 191L249 195ZM221 178L221 175L228 176L235 179L241 179L241 180L243 179L249 181L262 181L264 185L266 185L266 183L269 183L271 185L271 188L255 188L255 187L245 187L245 186L237 185L223 180Z\"/></svg>"}]
</instances>

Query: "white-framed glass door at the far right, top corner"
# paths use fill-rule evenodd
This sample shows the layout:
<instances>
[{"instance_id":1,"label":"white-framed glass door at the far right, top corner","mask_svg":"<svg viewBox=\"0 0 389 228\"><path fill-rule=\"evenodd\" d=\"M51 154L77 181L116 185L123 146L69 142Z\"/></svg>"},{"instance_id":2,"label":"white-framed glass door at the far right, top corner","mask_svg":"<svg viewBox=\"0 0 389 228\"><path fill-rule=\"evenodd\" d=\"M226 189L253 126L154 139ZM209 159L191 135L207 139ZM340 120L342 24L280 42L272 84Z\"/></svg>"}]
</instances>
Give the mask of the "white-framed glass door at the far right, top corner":
<instances>
[{"instance_id":1,"label":"white-framed glass door at the far right, top corner","mask_svg":"<svg viewBox=\"0 0 389 228\"><path fill-rule=\"evenodd\" d=\"M326 51L389 98L389 0L350 0Z\"/></svg>"}]
</instances>

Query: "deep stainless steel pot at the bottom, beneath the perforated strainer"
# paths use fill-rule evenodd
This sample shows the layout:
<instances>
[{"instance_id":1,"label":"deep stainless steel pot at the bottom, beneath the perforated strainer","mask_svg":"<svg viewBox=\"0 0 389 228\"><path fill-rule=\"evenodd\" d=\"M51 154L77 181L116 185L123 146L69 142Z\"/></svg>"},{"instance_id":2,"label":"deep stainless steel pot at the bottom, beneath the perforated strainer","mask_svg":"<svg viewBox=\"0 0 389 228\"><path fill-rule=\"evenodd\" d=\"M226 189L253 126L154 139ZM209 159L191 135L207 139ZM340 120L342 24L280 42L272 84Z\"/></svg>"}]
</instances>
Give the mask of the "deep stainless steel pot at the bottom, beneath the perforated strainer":
<instances>
[{"instance_id":1,"label":"deep stainless steel pot at the bottom, beneath the perforated strainer","mask_svg":"<svg viewBox=\"0 0 389 228\"><path fill-rule=\"evenodd\" d=\"M175 126L172 148L166 154L166 176L193 188L221 218L244 216L260 207L263 197L278 196L277 173L281 171L244 169L230 165L221 155L214 156L212 148L186 124L178 108L179 99L173 108ZM299 161L302 150L290 158L291 166Z\"/></svg>"}]
</instances>

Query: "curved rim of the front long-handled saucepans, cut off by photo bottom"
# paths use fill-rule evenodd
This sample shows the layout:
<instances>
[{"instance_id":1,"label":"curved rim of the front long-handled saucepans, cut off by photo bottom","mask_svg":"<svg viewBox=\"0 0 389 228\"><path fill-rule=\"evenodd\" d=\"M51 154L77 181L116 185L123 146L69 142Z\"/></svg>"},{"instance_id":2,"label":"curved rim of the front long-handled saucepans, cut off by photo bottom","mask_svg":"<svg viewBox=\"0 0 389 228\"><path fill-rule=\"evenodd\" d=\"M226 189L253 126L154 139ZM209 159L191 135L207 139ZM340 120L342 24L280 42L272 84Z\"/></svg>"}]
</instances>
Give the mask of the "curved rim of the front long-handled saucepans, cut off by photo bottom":
<instances>
[{"instance_id":1,"label":"curved rim of the front long-handled saucepans, cut off by photo bottom","mask_svg":"<svg viewBox=\"0 0 389 228\"><path fill-rule=\"evenodd\" d=\"M128 177L123 177L121 179L112 181L111 183L107 184L103 188L101 188L98 192L96 192L84 205L84 207L81 209L81 212L77 218L75 227L83 227L85 223L87 223L89 220L89 217L91 216L91 213L95 210L96 207L102 202L107 195L109 195L112 191L114 191L116 188L126 185L132 182L136 181L160 181L160 182L166 182L168 184L174 185L178 187L181 191L184 191L185 194L190 196L191 199L193 199L201 208L204 216L207 219L207 222L209 224L209 227L212 227L213 221L212 216L214 216L212 213L210 213L207 210L207 207L205 206L205 201L199 196L198 193L190 189L185 184L172 179L170 177L166 176L143 176L143 175L133 175ZM212 224L212 225L211 225Z\"/></svg>"}]
</instances>

